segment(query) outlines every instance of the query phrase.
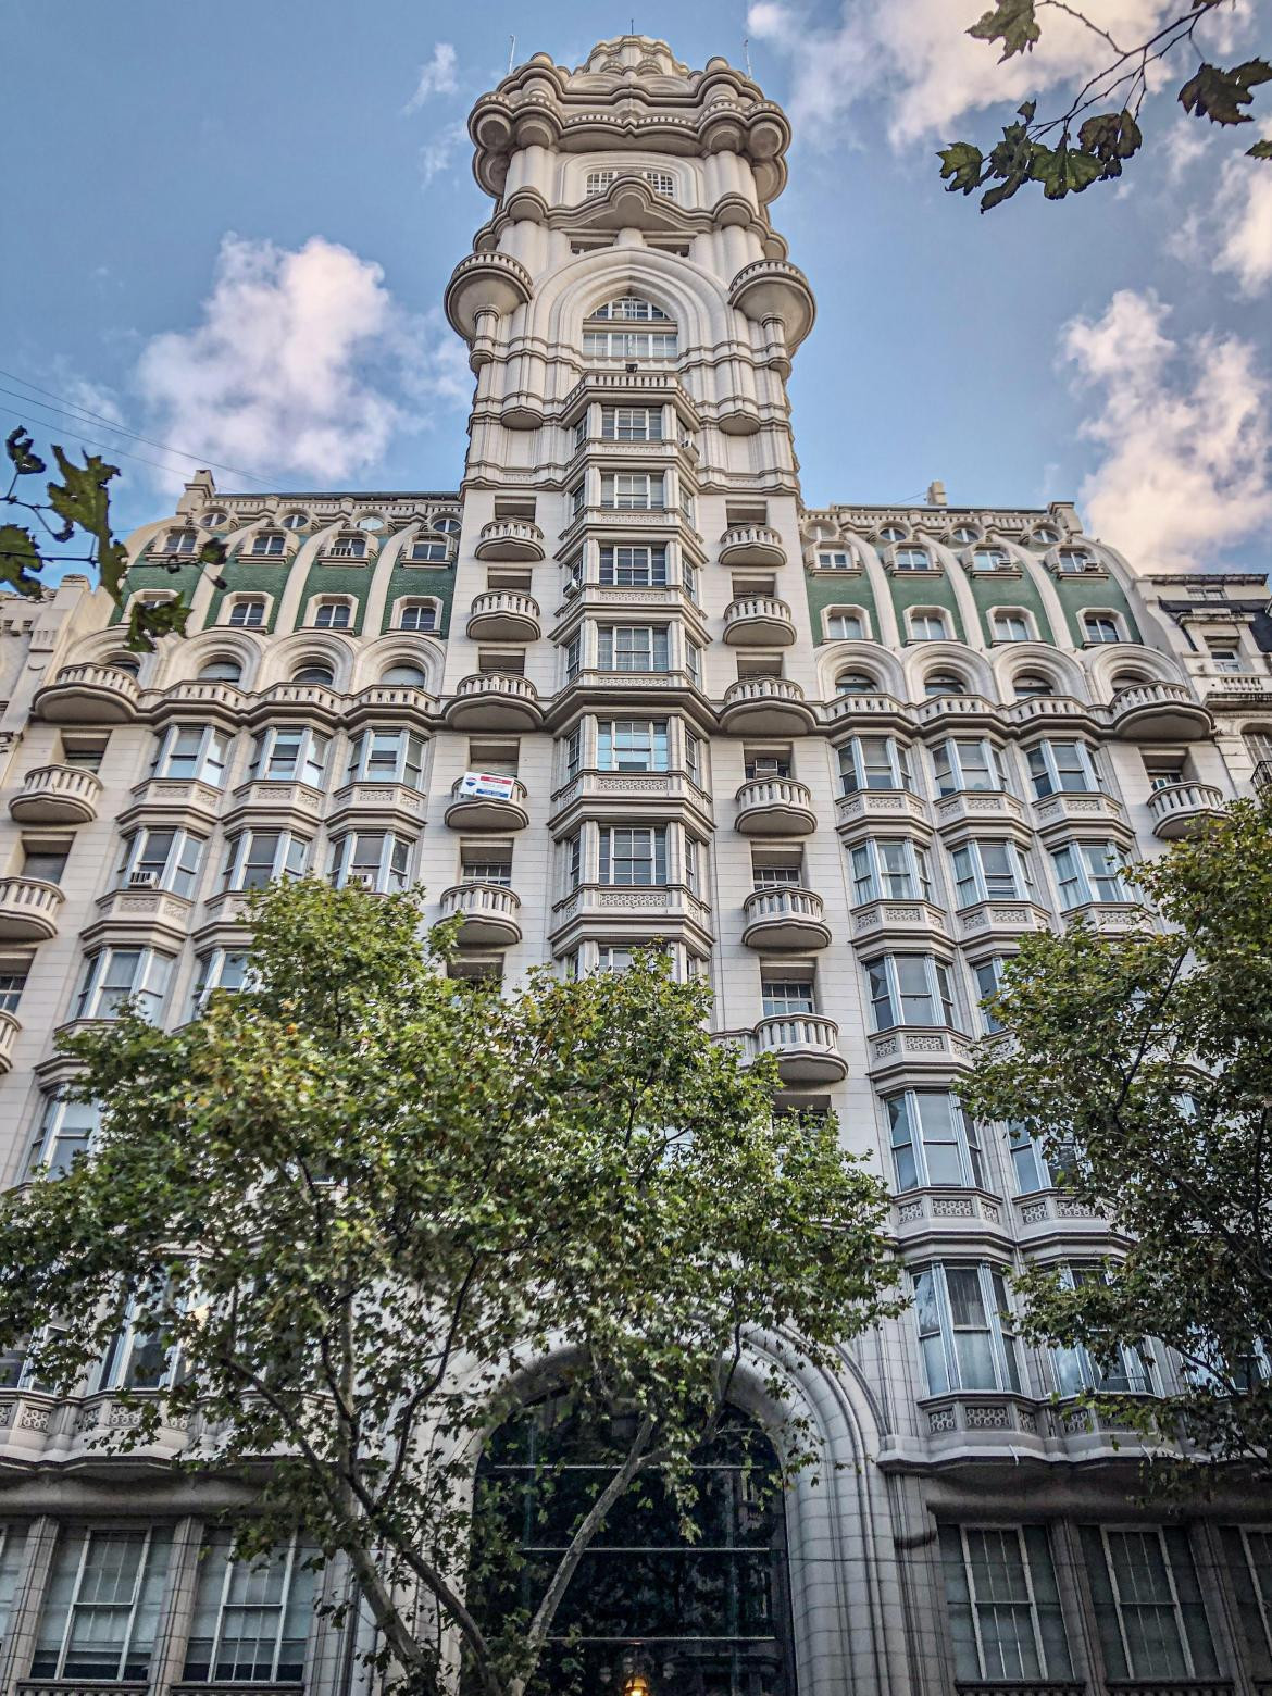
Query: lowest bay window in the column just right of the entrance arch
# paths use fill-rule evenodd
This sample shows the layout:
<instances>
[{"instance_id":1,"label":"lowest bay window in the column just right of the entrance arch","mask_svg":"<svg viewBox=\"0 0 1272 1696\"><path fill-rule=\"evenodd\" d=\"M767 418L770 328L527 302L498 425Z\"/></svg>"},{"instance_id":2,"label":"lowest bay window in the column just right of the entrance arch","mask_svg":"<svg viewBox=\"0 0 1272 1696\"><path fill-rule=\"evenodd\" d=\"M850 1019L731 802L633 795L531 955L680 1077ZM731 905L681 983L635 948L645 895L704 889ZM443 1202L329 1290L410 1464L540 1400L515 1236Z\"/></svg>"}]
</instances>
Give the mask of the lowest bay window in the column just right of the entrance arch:
<instances>
[{"instance_id":1,"label":"lowest bay window in the column just right of the entrance arch","mask_svg":"<svg viewBox=\"0 0 1272 1696\"><path fill-rule=\"evenodd\" d=\"M999 1269L936 1262L912 1280L928 1394L1019 1391L1016 1328Z\"/></svg>"}]
</instances>

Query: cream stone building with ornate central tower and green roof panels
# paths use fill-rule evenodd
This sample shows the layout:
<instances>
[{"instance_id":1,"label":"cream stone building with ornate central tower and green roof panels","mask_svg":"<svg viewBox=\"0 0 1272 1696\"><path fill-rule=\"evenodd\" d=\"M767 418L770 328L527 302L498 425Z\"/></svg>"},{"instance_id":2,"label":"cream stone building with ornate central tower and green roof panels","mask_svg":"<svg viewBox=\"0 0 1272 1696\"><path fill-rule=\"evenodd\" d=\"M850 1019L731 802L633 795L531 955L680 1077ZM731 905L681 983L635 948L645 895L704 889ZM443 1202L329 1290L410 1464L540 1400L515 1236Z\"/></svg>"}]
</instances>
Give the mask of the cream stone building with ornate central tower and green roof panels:
<instances>
[{"instance_id":1,"label":"cream stone building with ornate central tower and green roof panels","mask_svg":"<svg viewBox=\"0 0 1272 1696\"><path fill-rule=\"evenodd\" d=\"M1140 575L1067 504L804 509L785 380L814 302L768 214L789 129L722 59L536 54L470 127L495 205L446 293L477 377L461 488L200 471L131 541L134 595L193 595L139 665L83 580L5 602L7 1179L92 1136L54 1031L232 987L273 875L419 880L463 918L458 970L505 982L658 938L784 1102L889 1174L916 1301L794 1386L831 1464L760 1562L712 1557L729 1618L704 1581L699 1640L685 1613L651 1633L656 1696L1272 1689L1272 1501L1160 1523L1118 1431L1052 1404L1091 1362L1024 1348L1006 1277L1113 1240L950 1094L1019 938L1116 933L1123 858L1272 770L1267 585ZM126 1340L68 1404L7 1362L3 1691L334 1696L360 1674L298 1569L197 1567L202 1499L90 1447L112 1384L154 1370ZM1128 1352L1118 1384L1170 1370Z\"/></svg>"}]
</instances>

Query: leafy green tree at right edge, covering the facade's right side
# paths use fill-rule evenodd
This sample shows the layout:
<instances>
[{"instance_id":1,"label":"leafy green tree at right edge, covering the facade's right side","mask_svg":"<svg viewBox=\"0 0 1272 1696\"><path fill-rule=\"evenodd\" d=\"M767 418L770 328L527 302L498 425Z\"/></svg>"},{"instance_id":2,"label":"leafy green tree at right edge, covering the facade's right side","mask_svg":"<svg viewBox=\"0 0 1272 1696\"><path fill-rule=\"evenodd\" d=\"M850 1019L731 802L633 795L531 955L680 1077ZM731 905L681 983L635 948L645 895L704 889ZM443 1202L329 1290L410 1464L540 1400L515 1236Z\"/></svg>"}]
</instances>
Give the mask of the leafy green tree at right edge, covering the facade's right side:
<instances>
[{"instance_id":1,"label":"leafy green tree at right edge, covering the facade's right side","mask_svg":"<svg viewBox=\"0 0 1272 1696\"><path fill-rule=\"evenodd\" d=\"M1163 924L1031 936L990 1002L1006 1036L962 1091L1036 1136L1077 1199L1126 1236L1077 1287L1029 1269L1028 1335L1182 1362L1184 1389L1130 1406L1152 1437L1218 1460L1272 1452L1272 812L1236 802L1131 872ZM1145 1343L1148 1340L1148 1343ZM1169 1470L1169 1469L1167 1469ZM1196 1472L1196 1469L1191 1469Z\"/></svg>"}]
</instances>

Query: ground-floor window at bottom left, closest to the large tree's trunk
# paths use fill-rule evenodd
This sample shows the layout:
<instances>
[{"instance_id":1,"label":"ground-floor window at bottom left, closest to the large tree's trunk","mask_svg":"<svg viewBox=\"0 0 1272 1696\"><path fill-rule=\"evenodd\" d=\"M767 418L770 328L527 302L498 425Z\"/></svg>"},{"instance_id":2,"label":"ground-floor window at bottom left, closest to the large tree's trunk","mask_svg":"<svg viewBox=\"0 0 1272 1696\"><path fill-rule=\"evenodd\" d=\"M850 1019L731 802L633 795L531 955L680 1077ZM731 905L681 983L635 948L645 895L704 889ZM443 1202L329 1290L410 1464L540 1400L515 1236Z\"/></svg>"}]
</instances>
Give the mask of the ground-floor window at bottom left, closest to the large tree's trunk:
<instances>
[{"instance_id":1,"label":"ground-floor window at bottom left, closest to the large tree's trunk","mask_svg":"<svg viewBox=\"0 0 1272 1696\"><path fill-rule=\"evenodd\" d=\"M200 1682L298 1684L314 1615L309 1550L295 1540L263 1560L232 1557L229 1531L214 1531L198 1562L198 1589L185 1677Z\"/></svg>"}]
</instances>

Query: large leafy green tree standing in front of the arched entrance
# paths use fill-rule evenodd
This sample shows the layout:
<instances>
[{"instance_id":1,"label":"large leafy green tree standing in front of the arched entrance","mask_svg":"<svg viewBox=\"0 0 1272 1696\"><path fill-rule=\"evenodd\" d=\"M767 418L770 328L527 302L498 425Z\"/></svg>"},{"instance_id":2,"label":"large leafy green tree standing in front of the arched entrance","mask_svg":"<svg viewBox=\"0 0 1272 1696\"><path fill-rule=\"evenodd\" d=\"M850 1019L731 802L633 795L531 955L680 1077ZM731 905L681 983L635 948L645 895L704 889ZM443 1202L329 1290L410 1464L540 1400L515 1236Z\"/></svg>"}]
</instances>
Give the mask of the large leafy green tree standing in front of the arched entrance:
<instances>
[{"instance_id":1,"label":"large leafy green tree standing in front of the arched entrance","mask_svg":"<svg viewBox=\"0 0 1272 1696\"><path fill-rule=\"evenodd\" d=\"M251 987L63 1041L103 1130L3 1197L0 1347L34 1338L66 1387L131 1316L171 1381L102 1443L188 1418L175 1464L253 1484L244 1552L304 1528L409 1689L443 1688L458 1638L483 1696L517 1696L624 1491L656 1474L692 1508L748 1333L782 1398L784 1350L826 1362L897 1309L885 1189L833 1119L773 1114L768 1063L712 1041L707 992L656 957L504 999L441 970L414 895L302 880L251 926ZM621 1455L533 1604L480 1621L473 1469L543 1360ZM790 1476L817 1452L785 1425Z\"/></svg>"}]
</instances>

